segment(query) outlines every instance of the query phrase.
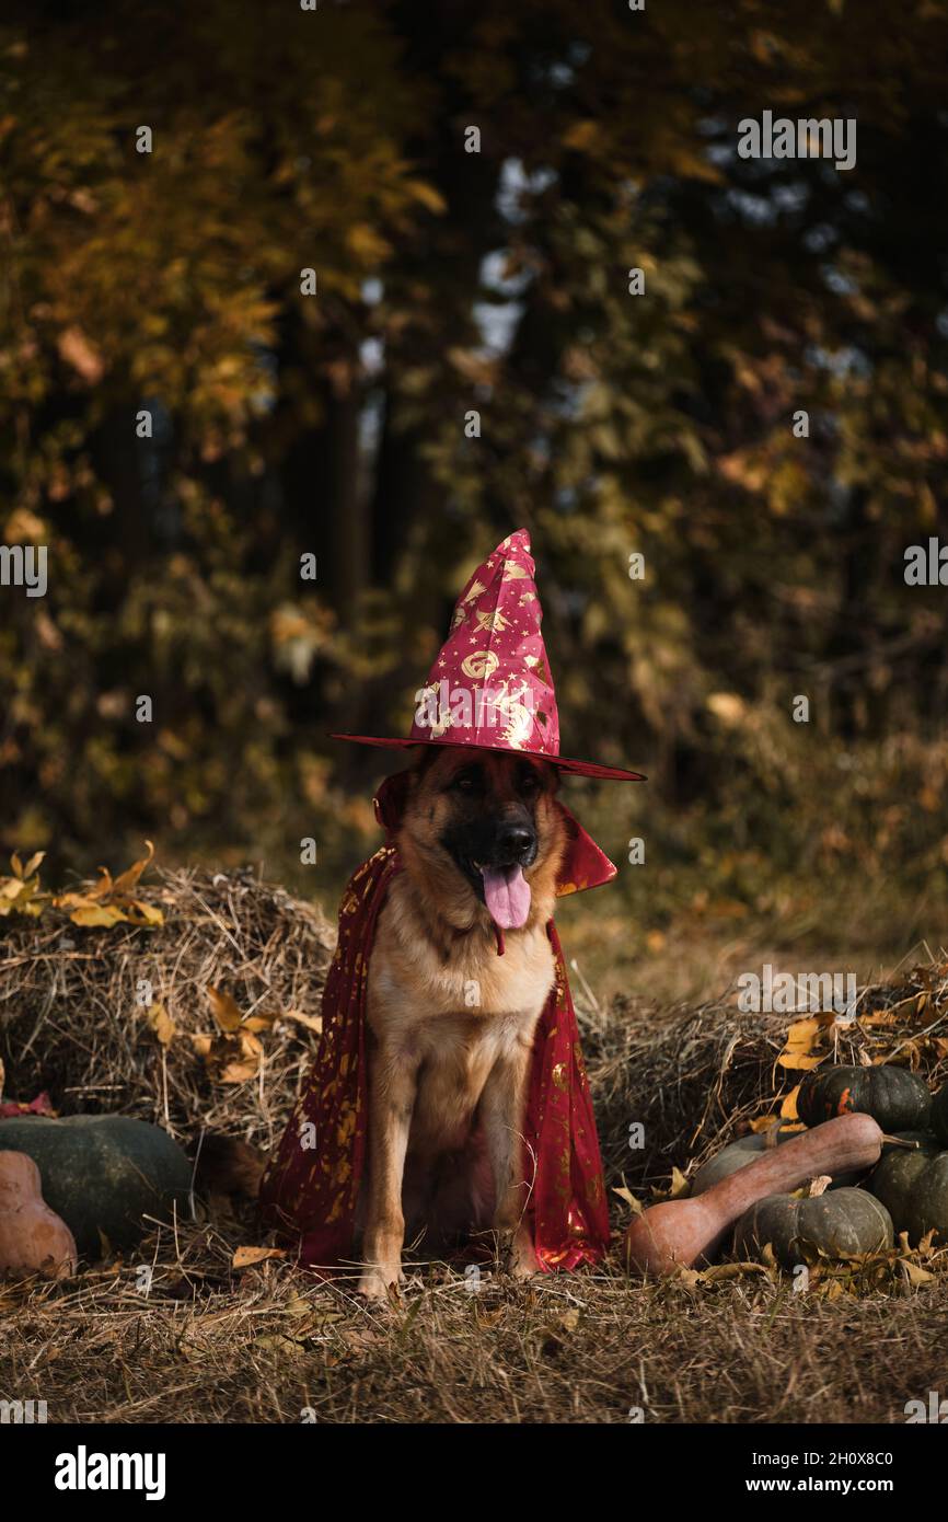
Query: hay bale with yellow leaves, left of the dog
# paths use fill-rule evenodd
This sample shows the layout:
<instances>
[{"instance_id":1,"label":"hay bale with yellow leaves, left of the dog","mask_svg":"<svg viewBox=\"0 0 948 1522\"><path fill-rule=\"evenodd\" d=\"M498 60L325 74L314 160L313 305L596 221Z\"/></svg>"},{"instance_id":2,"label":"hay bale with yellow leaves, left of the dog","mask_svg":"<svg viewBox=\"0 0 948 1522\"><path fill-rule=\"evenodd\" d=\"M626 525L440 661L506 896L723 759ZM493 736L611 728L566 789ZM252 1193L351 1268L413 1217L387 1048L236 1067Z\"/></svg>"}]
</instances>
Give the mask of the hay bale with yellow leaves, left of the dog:
<instances>
[{"instance_id":1,"label":"hay bale with yellow leaves, left of the dog","mask_svg":"<svg viewBox=\"0 0 948 1522\"><path fill-rule=\"evenodd\" d=\"M251 871L158 871L142 893L161 925L87 928L55 909L0 922L8 1096L49 1090L62 1114L122 1111L173 1135L205 1126L271 1146L318 1043L335 927ZM228 1038L208 988L250 1017L250 1046L262 1047L240 1081L225 1081Z\"/></svg>"}]
</instances>

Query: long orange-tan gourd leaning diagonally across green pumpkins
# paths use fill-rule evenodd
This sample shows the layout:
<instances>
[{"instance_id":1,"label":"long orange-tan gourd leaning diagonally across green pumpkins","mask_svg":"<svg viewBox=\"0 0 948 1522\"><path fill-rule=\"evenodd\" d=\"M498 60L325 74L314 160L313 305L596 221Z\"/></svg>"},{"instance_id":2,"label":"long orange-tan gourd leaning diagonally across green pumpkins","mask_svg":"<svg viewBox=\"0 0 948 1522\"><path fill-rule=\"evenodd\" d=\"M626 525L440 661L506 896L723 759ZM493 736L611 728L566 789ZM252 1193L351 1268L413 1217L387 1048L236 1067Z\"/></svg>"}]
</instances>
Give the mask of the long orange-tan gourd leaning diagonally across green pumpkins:
<instances>
[{"instance_id":1,"label":"long orange-tan gourd leaning diagonally across green pumpkins","mask_svg":"<svg viewBox=\"0 0 948 1522\"><path fill-rule=\"evenodd\" d=\"M822 1173L872 1167L881 1151L883 1132L870 1116L838 1116L802 1131L697 1199L668 1199L645 1210L625 1236L628 1266L651 1274L689 1268L711 1257L729 1227L758 1199L797 1189Z\"/></svg>"}]
</instances>

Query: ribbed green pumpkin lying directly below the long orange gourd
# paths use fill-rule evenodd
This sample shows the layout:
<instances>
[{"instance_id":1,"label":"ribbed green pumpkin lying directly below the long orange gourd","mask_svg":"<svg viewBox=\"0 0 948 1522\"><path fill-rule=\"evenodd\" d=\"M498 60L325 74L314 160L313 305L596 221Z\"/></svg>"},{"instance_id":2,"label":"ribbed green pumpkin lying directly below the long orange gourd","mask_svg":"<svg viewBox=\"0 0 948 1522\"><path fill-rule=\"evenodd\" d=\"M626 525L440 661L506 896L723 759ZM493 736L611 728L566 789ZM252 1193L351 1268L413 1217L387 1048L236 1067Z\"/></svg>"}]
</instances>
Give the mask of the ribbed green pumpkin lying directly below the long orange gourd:
<instances>
[{"instance_id":1,"label":"ribbed green pumpkin lying directly below the long orange gourd","mask_svg":"<svg viewBox=\"0 0 948 1522\"><path fill-rule=\"evenodd\" d=\"M826 1257L860 1257L892 1247L892 1216L864 1189L828 1190L811 1199L767 1195L744 1212L733 1233L738 1257L752 1257L768 1242L784 1268L805 1260L806 1248Z\"/></svg>"}]
</instances>

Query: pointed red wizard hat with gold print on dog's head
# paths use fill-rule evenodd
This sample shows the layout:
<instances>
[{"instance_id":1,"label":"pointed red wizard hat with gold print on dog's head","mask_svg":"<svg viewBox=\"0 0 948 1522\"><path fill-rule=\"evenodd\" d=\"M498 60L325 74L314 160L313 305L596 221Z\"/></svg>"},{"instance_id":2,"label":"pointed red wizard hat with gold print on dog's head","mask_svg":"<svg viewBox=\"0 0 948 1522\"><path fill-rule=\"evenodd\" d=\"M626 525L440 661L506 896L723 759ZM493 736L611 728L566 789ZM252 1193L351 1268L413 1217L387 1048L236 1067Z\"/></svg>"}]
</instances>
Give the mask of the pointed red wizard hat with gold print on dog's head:
<instances>
[{"instance_id":1,"label":"pointed red wizard hat with gold print on dog's head","mask_svg":"<svg viewBox=\"0 0 948 1522\"><path fill-rule=\"evenodd\" d=\"M461 592L446 642L415 694L405 740L333 735L362 746L476 746L540 756L561 772L644 782L641 772L560 755L560 718L540 633L530 534L519 528L479 565Z\"/></svg>"}]
</instances>

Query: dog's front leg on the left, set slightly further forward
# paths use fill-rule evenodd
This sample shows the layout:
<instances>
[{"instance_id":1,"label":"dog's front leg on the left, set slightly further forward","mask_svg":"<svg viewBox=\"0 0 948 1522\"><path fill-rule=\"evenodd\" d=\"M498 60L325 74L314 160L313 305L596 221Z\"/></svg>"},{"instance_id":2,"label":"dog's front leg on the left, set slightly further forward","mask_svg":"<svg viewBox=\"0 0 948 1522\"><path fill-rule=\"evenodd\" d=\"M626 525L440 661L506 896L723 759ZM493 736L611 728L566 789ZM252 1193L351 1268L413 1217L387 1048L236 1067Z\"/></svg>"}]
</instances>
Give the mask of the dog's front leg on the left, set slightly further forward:
<instances>
[{"instance_id":1,"label":"dog's front leg on the left, set slightly further forward","mask_svg":"<svg viewBox=\"0 0 948 1522\"><path fill-rule=\"evenodd\" d=\"M385 1300L402 1277L402 1178L417 1091L417 1064L376 1046L368 1064L368 1208L359 1291Z\"/></svg>"}]
</instances>

